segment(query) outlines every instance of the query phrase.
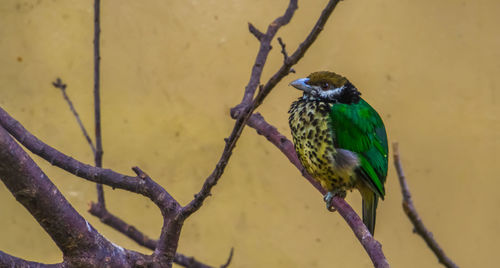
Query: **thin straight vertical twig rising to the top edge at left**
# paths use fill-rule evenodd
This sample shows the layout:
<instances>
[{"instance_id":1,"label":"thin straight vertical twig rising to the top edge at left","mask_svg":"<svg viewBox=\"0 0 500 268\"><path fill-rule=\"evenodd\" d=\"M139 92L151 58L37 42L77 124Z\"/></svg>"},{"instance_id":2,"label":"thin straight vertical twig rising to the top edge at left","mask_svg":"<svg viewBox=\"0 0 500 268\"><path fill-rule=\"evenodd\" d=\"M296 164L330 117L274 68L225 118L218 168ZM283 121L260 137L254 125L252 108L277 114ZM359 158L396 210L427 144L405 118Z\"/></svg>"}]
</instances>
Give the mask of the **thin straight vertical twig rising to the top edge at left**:
<instances>
[{"instance_id":1,"label":"thin straight vertical twig rising to the top edge at left","mask_svg":"<svg viewBox=\"0 0 500 268\"><path fill-rule=\"evenodd\" d=\"M101 73L101 0L94 0L94 117L95 117L95 142L96 150L94 160L96 167L102 167L102 133L101 133L101 97L100 97L100 73ZM104 189L102 184L96 185L97 202L106 207L104 200Z\"/></svg>"}]
</instances>

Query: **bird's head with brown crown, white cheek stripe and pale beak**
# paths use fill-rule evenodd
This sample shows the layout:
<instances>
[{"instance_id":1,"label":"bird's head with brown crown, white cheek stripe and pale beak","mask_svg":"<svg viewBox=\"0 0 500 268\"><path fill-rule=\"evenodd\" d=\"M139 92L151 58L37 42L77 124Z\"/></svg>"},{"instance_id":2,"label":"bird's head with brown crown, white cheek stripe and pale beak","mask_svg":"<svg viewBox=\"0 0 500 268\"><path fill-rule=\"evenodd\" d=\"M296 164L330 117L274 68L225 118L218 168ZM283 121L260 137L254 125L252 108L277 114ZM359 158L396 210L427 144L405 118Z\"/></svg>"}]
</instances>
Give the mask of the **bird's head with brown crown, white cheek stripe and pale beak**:
<instances>
[{"instance_id":1,"label":"bird's head with brown crown, white cheek stripe and pale beak","mask_svg":"<svg viewBox=\"0 0 500 268\"><path fill-rule=\"evenodd\" d=\"M304 91L304 98L345 104L358 103L361 93L347 78L333 72L315 72L290 83Z\"/></svg>"}]
</instances>

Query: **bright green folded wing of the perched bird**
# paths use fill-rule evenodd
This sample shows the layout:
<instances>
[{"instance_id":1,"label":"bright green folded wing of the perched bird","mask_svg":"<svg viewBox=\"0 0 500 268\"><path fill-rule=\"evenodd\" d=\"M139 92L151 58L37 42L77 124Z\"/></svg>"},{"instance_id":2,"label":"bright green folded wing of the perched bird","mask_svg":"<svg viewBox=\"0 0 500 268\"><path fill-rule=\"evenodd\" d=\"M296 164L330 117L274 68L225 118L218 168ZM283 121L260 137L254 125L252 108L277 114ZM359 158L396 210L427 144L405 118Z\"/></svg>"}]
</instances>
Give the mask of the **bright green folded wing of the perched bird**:
<instances>
[{"instance_id":1,"label":"bright green folded wing of the perched bird","mask_svg":"<svg viewBox=\"0 0 500 268\"><path fill-rule=\"evenodd\" d=\"M357 104L337 103L330 111L335 147L355 152L360 171L370 188L383 199L387 177L387 134L378 113L363 99Z\"/></svg>"}]
</instances>

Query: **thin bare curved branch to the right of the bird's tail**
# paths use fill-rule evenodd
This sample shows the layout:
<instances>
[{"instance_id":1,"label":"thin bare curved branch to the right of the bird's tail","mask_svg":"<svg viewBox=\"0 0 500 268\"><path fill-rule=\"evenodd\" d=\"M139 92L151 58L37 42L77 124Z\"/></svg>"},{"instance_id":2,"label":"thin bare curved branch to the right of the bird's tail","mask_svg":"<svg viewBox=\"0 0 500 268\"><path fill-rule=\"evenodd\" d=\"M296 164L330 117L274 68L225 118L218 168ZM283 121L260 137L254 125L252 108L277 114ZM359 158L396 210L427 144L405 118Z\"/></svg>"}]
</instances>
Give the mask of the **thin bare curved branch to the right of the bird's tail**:
<instances>
[{"instance_id":1,"label":"thin bare curved branch to the right of the bird's tail","mask_svg":"<svg viewBox=\"0 0 500 268\"><path fill-rule=\"evenodd\" d=\"M432 252L434 252L441 264L448 268L458 268L458 266L448 256L446 256L443 249L434 239L432 232L425 227L422 219L418 215L417 209L413 205L410 189L408 187L408 183L406 182L403 166L401 164L401 157L399 154L399 146L397 142L392 144L392 150L394 151L394 166L396 167L396 171L398 173L399 184L401 185L401 193L403 195L403 210L413 224L415 228L414 231L424 239L425 243L427 243L427 246L432 250Z\"/></svg>"}]
</instances>

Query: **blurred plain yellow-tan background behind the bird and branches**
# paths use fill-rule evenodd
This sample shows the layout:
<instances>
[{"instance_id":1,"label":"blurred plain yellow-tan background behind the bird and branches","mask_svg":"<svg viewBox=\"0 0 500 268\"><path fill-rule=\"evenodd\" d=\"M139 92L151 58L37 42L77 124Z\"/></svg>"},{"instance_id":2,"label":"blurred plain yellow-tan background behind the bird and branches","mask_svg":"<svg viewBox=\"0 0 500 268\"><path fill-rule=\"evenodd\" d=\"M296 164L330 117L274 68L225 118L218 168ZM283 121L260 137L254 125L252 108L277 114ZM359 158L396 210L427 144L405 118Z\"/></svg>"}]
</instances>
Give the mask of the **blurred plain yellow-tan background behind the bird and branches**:
<instances>
[{"instance_id":1,"label":"blurred plain yellow-tan background behind the bird and branches","mask_svg":"<svg viewBox=\"0 0 500 268\"><path fill-rule=\"evenodd\" d=\"M58 89L61 77L93 133L93 1L0 2L0 105L49 145L83 162L91 151ZM214 168L248 82L258 42L287 6L280 1L102 3L104 165L138 165L186 204ZM292 52L326 1L300 1L281 36ZM290 137L287 84L313 71L347 76L398 141L426 225L461 267L498 265L500 239L500 2L369 1L339 4L305 58L259 111ZM265 82L280 66L273 42ZM114 243L149 252L87 213L95 186L34 157L71 204ZM441 267L401 209L390 160L376 238L393 267ZM113 213L157 237L149 200L106 187ZM348 202L360 211L357 192ZM60 262L61 253L0 184L0 250ZM229 166L182 231L179 251L231 267L371 267L344 220L288 160L246 128Z\"/></svg>"}]
</instances>

